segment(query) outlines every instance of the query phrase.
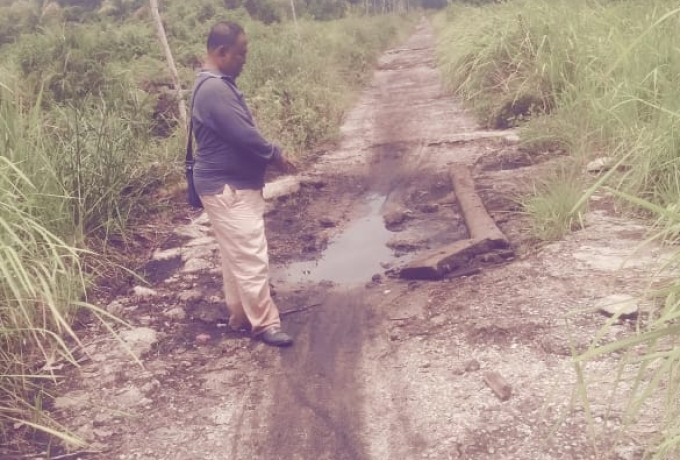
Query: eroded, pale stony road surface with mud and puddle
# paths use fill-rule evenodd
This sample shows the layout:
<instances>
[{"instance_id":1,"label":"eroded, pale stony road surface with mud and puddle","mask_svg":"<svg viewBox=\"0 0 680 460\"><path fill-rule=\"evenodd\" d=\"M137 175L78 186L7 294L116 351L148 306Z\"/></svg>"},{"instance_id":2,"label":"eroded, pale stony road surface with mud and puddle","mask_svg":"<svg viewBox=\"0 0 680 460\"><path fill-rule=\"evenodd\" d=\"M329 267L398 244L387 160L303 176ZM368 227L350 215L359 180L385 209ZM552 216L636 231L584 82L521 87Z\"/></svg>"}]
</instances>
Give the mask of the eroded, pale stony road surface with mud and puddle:
<instances>
[{"instance_id":1,"label":"eroded, pale stony road surface with mud and puddle","mask_svg":"<svg viewBox=\"0 0 680 460\"><path fill-rule=\"evenodd\" d=\"M511 132L480 130L447 95L423 22L388 51L342 140L267 216L276 300L294 347L229 332L205 216L172 230L151 282L107 309L134 327L85 341L55 414L91 442L85 459L387 460L639 458L649 425L617 438L617 362L588 368L593 426L574 394L571 347L606 318L588 307L637 296L657 248L593 202L589 226L537 247L514 197L557 159ZM468 165L517 256L440 281L390 274L467 238L448 167ZM602 204L598 208L598 203ZM644 301L641 301L641 308ZM633 330L617 323L605 340ZM501 400L485 382L512 387ZM638 431L635 431L638 429ZM591 437L592 435L592 437Z\"/></svg>"}]
</instances>

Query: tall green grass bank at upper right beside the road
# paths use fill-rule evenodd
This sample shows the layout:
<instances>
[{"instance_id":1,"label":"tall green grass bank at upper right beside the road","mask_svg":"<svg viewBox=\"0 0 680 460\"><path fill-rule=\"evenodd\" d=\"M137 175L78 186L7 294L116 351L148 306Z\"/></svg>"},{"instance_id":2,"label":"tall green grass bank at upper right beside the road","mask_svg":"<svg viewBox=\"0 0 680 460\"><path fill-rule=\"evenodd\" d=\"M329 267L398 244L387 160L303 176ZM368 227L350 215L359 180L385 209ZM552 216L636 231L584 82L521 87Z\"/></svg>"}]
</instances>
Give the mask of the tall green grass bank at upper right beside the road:
<instances>
[{"instance_id":1,"label":"tall green grass bank at upper right beside the road","mask_svg":"<svg viewBox=\"0 0 680 460\"><path fill-rule=\"evenodd\" d=\"M679 27L663 0L455 6L438 19L439 56L487 125L522 124L527 146L584 160L632 154L622 190L669 204L680 198Z\"/></svg>"}]
</instances>

